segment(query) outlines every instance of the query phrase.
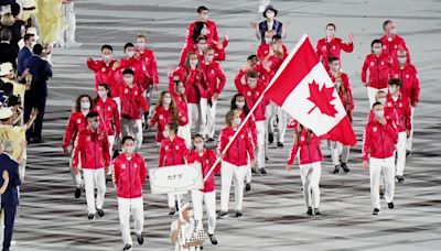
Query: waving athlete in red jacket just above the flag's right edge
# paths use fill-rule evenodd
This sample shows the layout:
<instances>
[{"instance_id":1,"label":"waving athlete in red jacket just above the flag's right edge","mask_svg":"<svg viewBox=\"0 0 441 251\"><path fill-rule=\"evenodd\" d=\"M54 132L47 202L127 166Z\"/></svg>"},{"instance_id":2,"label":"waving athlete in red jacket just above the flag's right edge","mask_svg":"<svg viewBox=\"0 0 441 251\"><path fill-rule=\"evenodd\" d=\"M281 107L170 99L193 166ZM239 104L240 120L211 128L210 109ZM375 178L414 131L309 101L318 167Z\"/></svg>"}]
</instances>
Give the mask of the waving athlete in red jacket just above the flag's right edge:
<instances>
[{"instance_id":1,"label":"waving athlete in red jacket just above the flag's right edge","mask_svg":"<svg viewBox=\"0 0 441 251\"><path fill-rule=\"evenodd\" d=\"M320 39L316 43L316 53L322 62L323 66L330 70L327 59L332 56L341 58L340 54L342 50L346 53L354 51L354 35L349 34L349 42L344 43L342 39L335 36L335 24L329 23L326 25L326 37Z\"/></svg>"}]
</instances>

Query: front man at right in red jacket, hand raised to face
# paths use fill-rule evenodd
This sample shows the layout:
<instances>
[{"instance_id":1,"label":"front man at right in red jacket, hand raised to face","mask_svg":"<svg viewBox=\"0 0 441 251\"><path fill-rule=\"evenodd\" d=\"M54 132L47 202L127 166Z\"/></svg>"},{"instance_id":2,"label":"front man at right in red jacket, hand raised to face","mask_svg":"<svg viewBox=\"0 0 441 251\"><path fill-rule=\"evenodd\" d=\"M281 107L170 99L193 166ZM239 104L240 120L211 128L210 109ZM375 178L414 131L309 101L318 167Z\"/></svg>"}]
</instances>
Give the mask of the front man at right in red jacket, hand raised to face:
<instances>
[{"instance_id":1,"label":"front man at right in red jacket, hand raised to face","mask_svg":"<svg viewBox=\"0 0 441 251\"><path fill-rule=\"evenodd\" d=\"M380 102L373 105L375 120L368 121L363 135L363 167L369 168L370 197L374 215L379 214L379 186L380 174L386 181L385 198L389 209L394 208L395 190L395 145L398 132L392 120L385 118L384 107ZM367 163L369 161L369 164Z\"/></svg>"}]
</instances>

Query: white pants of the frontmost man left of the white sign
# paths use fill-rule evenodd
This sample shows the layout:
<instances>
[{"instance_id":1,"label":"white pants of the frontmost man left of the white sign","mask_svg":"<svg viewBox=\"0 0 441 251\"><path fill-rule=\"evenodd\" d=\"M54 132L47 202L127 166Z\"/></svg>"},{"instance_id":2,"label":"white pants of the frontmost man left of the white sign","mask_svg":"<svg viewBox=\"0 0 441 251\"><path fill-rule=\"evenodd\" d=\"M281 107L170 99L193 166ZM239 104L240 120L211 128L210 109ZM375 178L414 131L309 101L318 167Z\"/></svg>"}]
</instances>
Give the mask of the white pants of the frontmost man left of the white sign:
<instances>
[{"instance_id":1,"label":"white pants of the frontmost man left of the white sign","mask_svg":"<svg viewBox=\"0 0 441 251\"><path fill-rule=\"evenodd\" d=\"M144 208L142 197L120 198L118 197L119 225L125 244L132 245L130 236L130 215L133 216L135 233L141 234L144 228Z\"/></svg>"}]
</instances>

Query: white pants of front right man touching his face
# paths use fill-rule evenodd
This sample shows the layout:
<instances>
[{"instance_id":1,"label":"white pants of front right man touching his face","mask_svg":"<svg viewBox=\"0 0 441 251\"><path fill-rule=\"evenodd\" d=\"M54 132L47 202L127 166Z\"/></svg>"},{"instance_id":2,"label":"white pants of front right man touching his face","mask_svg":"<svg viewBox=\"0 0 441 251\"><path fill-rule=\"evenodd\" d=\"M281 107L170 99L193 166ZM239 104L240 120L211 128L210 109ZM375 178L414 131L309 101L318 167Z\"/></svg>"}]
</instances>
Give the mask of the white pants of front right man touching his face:
<instances>
[{"instance_id":1,"label":"white pants of front right man touching his face","mask_svg":"<svg viewBox=\"0 0 441 251\"><path fill-rule=\"evenodd\" d=\"M380 209L379 204L379 185L380 185L380 174L385 176L386 189L385 199L386 203L391 203L394 200L395 192L395 156L388 159L375 159L369 160L369 176L370 176L370 198L374 208Z\"/></svg>"}]
</instances>

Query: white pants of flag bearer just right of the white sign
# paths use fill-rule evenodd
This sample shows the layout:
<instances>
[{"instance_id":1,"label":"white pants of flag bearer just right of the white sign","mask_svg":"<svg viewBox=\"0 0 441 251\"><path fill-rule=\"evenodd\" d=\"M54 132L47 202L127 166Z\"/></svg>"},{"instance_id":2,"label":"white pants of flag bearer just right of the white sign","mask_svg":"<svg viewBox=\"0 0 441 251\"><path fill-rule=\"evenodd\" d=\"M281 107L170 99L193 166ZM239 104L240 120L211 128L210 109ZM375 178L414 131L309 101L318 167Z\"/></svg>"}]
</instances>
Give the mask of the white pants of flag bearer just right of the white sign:
<instances>
[{"instance_id":1,"label":"white pants of flag bearer just right of the white sign","mask_svg":"<svg viewBox=\"0 0 441 251\"><path fill-rule=\"evenodd\" d=\"M213 234L216 228L216 192L203 193L201 190L192 190L192 201L194 210L194 219L202 222L203 204L208 218L208 234Z\"/></svg>"}]
</instances>

